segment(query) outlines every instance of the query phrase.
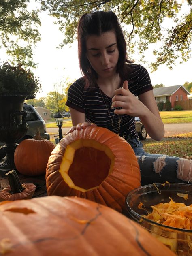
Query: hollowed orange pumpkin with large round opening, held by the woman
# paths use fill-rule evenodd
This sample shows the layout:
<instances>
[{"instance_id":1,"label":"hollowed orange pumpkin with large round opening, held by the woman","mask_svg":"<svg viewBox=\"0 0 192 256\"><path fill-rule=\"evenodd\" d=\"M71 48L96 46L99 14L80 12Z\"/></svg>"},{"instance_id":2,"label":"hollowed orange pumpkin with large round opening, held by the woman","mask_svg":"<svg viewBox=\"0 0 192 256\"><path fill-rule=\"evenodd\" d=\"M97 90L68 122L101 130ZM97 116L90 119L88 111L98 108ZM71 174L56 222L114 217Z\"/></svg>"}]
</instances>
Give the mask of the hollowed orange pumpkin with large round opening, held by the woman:
<instances>
[{"instance_id":1,"label":"hollowed orange pumpkin with large round opening, held by the woman","mask_svg":"<svg viewBox=\"0 0 192 256\"><path fill-rule=\"evenodd\" d=\"M88 126L55 147L46 170L48 195L79 196L122 212L126 195L141 186L132 147L106 128Z\"/></svg>"}]
</instances>

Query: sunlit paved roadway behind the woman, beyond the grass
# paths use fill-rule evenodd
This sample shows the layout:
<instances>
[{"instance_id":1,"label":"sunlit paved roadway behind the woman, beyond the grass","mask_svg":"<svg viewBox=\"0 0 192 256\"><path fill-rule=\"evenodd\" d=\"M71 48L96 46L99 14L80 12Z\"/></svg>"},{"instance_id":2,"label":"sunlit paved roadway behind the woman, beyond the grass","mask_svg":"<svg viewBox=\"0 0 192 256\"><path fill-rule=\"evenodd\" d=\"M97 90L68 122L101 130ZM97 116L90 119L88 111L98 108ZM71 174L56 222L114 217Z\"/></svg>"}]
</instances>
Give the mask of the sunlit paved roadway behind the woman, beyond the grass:
<instances>
[{"instance_id":1,"label":"sunlit paved roadway behind the woman, beyond the grass","mask_svg":"<svg viewBox=\"0 0 192 256\"><path fill-rule=\"evenodd\" d=\"M164 137L170 137L173 135L192 132L192 123L183 123L183 124L164 124L165 135ZM62 128L63 134L66 134L69 131L69 128ZM58 134L58 128L47 128L48 133ZM51 135L54 138L54 135ZM150 138L147 135L147 138Z\"/></svg>"}]
</instances>

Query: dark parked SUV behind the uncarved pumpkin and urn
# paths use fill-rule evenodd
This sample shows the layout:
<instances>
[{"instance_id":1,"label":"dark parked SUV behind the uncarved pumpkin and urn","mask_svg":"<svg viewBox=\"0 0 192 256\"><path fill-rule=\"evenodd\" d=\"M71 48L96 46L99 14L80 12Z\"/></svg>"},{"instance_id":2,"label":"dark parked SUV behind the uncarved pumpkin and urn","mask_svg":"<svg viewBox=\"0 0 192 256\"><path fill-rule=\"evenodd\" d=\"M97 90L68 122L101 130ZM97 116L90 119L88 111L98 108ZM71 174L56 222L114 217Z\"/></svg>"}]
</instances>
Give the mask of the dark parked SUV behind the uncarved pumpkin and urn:
<instances>
[{"instance_id":1,"label":"dark parked SUV behind the uncarved pumpkin and urn","mask_svg":"<svg viewBox=\"0 0 192 256\"><path fill-rule=\"evenodd\" d=\"M23 110L27 111L26 122L28 124L28 131L26 135L21 138L17 143L23 141L24 139L33 138L37 131L40 132L41 138L50 140L50 135L47 133L46 124L41 115L36 111L33 105L24 103ZM5 156L4 143L0 142L0 159Z\"/></svg>"}]
</instances>

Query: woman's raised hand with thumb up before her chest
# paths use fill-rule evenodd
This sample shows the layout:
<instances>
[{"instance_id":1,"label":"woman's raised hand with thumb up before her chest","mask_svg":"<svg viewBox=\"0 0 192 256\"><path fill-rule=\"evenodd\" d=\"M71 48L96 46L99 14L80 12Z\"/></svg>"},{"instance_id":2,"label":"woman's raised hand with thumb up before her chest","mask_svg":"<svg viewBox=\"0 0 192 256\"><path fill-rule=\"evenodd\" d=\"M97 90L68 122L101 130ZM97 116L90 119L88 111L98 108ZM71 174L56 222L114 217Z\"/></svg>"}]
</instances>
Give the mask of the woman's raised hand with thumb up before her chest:
<instances>
[{"instance_id":1,"label":"woman's raised hand with thumb up before her chest","mask_svg":"<svg viewBox=\"0 0 192 256\"><path fill-rule=\"evenodd\" d=\"M139 117L141 113L147 109L147 107L130 92L128 89L128 81L124 81L123 88L115 90L115 96L112 98L112 102L112 107L120 107L120 109L115 109L115 114Z\"/></svg>"}]
</instances>

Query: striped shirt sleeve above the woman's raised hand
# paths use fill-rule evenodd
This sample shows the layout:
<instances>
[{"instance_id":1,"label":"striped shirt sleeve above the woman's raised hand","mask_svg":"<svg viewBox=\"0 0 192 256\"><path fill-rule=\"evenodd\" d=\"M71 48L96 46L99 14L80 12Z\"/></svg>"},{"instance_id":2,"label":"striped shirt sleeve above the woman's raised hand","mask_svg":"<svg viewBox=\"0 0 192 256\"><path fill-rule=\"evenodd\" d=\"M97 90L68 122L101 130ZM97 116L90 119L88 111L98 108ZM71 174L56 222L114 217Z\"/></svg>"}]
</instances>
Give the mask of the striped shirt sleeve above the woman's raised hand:
<instances>
[{"instance_id":1,"label":"striped shirt sleeve above the woman's raised hand","mask_svg":"<svg viewBox=\"0 0 192 256\"><path fill-rule=\"evenodd\" d=\"M153 90L153 86L151 85L149 73L146 68L140 66L137 95L140 95L150 90Z\"/></svg>"}]
</instances>

